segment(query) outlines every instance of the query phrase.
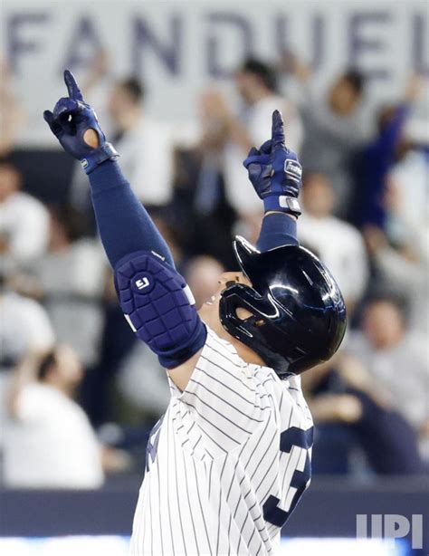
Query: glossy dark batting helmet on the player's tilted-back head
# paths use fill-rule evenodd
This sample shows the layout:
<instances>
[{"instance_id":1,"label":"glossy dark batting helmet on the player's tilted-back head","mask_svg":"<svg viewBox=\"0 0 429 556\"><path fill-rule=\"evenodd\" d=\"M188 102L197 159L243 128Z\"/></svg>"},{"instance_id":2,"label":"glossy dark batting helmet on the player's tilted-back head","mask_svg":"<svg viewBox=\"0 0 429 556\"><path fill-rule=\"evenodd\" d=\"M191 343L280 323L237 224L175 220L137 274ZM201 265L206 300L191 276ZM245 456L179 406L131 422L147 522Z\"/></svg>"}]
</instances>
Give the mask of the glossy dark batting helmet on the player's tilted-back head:
<instances>
[{"instance_id":1,"label":"glossy dark batting helmet on the player's tilted-back head","mask_svg":"<svg viewBox=\"0 0 429 556\"><path fill-rule=\"evenodd\" d=\"M235 283L222 292L224 329L280 377L329 359L346 331L346 307L326 266L298 245L260 253L240 236L234 252L252 286ZM238 307L252 316L239 319Z\"/></svg>"}]
</instances>

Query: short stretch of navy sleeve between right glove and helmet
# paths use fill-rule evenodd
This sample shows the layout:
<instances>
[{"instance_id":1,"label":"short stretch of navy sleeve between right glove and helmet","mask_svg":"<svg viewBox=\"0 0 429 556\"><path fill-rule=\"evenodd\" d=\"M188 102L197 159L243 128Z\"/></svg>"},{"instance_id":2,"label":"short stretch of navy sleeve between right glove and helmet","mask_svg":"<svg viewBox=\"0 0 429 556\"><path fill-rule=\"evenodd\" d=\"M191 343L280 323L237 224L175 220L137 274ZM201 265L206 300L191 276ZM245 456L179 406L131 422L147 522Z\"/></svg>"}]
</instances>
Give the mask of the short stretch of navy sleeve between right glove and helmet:
<instances>
[{"instance_id":1,"label":"short stretch of navy sleeve between right glove and helmet","mask_svg":"<svg viewBox=\"0 0 429 556\"><path fill-rule=\"evenodd\" d=\"M264 216L261 233L256 243L259 251L268 251L274 247L291 244L299 244L295 218L283 213L272 213Z\"/></svg>"}]
</instances>

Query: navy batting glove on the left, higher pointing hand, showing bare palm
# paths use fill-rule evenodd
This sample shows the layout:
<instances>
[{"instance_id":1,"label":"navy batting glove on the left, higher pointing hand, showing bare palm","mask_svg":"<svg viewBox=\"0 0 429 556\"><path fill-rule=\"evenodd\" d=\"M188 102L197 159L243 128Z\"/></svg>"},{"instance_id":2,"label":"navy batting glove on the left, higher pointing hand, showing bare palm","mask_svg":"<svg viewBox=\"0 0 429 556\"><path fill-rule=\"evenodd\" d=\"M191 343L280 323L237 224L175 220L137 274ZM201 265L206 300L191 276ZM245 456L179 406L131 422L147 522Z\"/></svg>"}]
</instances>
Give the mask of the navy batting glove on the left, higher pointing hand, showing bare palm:
<instances>
[{"instance_id":1,"label":"navy batting glove on the left, higher pointing hand, showing bare palm","mask_svg":"<svg viewBox=\"0 0 429 556\"><path fill-rule=\"evenodd\" d=\"M43 118L48 123L53 135L60 141L62 149L72 157L81 160L82 168L91 174L101 162L118 158L118 152L106 141L101 131L97 114L89 104L83 101L81 91L74 76L69 70L64 72L68 97L60 99L53 112L45 110ZM85 141L86 131L92 129L98 138L97 146Z\"/></svg>"}]
</instances>

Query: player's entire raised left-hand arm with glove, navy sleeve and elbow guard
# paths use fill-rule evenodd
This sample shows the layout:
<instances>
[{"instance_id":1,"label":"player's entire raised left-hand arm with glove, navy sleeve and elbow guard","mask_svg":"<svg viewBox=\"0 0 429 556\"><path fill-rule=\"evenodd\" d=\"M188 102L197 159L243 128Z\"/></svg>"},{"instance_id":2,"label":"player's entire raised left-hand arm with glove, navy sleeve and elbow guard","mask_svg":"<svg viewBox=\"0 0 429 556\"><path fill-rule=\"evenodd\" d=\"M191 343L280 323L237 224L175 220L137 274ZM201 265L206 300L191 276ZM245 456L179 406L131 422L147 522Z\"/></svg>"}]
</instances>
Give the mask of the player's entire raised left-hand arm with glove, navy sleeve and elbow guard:
<instances>
[{"instance_id":1,"label":"player's entire raised left-hand arm with glove, navy sleeve and elbow guard","mask_svg":"<svg viewBox=\"0 0 429 556\"><path fill-rule=\"evenodd\" d=\"M131 329L163 366L174 369L203 347L205 325L166 242L122 175L119 154L107 142L94 110L83 101L71 72L64 72L64 81L69 96L43 118L90 177L101 241Z\"/></svg>"}]
</instances>

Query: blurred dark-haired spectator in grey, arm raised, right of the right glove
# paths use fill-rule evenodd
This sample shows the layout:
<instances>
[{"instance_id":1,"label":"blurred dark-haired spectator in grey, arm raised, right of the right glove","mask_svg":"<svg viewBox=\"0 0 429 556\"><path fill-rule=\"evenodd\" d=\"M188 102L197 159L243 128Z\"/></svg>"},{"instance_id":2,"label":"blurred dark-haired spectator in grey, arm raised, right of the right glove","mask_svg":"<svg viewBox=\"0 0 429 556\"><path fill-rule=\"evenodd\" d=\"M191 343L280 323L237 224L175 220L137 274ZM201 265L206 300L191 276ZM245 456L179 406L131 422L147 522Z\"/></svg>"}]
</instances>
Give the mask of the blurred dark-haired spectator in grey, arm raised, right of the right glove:
<instances>
[{"instance_id":1,"label":"blurred dark-haired spectator in grey, arm raised, right of the right glove","mask_svg":"<svg viewBox=\"0 0 429 556\"><path fill-rule=\"evenodd\" d=\"M300 83L302 168L329 178L338 200L335 212L347 216L353 186L350 164L365 139L359 110L364 94L363 75L355 69L341 73L327 97L319 99L314 97L308 66L289 54L287 71Z\"/></svg>"}]
</instances>

